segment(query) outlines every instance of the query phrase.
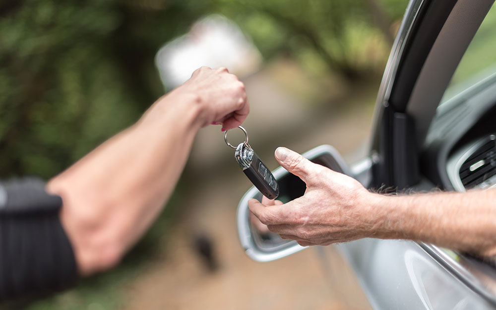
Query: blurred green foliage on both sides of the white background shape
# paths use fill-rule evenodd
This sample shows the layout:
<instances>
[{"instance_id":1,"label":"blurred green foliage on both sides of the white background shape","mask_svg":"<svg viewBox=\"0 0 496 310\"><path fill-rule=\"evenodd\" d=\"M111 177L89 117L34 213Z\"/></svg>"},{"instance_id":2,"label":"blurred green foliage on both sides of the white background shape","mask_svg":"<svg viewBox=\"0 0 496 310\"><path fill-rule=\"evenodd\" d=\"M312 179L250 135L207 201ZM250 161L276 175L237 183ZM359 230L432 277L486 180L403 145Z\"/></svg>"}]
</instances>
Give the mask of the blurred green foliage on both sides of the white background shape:
<instances>
[{"instance_id":1,"label":"blurred green foliage on both sides of the white background shape","mask_svg":"<svg viewBox=\"0 0 496 310\"><path fill-rule=\"evenodd\" d=\"M154 54L201 16L221 13L235 20L266 59L290 56L314 72L333 70L353 80L382 70L383 51L373 59L370 49L388 50L393 30L387 27L405 5L401 0L2 1L0 177L49 178L136 121L163 92Z\"/></svg>"}]
</instances>

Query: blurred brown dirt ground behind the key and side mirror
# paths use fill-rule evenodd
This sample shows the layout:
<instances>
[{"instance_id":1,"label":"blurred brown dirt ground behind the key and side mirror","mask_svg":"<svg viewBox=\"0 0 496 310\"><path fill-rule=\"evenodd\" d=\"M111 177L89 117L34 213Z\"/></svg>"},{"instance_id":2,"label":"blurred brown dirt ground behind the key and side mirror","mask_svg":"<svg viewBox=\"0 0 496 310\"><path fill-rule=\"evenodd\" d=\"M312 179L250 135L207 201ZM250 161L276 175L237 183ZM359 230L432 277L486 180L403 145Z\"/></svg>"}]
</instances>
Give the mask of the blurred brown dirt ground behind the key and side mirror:
<instances>
[{"instance_id":1,"label":"blurred brown dirt ground behind the key and side mirror","mask_svg":"<svg viewBox=\"0 0 496 310\"><path fill-rule=\"evenodd\" d=\"M245 83L251 103L245 126L250 144L268 168L277 167L272 153L280 145L304 152L331 144L351 161L365 152L372 104L361 103L374 96L375 85L344 96L345 104L320 117L322 110L317 109L319 115L309 112L315 107L286 92L270 70ZM309 248L268 263L248 258L238 241L236 207L250 183L219 127L198 135L187 173L196 180L180 201L184 212L170 231L174 238L164 238L164 255L126 285L124 310L371 309L333 247ZM213 241L219 264L215 271L205 267L192 247L197 234Z\"/></svg>"}]
</instances>

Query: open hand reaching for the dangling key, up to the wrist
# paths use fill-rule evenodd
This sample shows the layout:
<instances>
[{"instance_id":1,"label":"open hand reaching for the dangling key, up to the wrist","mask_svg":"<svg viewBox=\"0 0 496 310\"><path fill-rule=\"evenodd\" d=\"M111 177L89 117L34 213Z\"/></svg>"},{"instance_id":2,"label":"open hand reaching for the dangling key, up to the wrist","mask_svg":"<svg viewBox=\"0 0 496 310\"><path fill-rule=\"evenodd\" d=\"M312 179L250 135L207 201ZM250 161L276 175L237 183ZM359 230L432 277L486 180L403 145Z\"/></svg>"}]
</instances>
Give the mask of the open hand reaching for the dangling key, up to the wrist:
<instances>
[{"instance_id":1,"label":"open hand reaching for the dangling key, up to the wrist","mask_svg":"<svg viewBox=\"0 0 496 310\"><path fill-rule=\"evenodd\" d=\"M251 212L271 232L301 246L378 237L381 216L373 208L376 194L353 178L314 164L287 148L277 148L275 158L302 179L307 190L302 197L282 205L248 201Z\"/></svg>"}]
</instances>

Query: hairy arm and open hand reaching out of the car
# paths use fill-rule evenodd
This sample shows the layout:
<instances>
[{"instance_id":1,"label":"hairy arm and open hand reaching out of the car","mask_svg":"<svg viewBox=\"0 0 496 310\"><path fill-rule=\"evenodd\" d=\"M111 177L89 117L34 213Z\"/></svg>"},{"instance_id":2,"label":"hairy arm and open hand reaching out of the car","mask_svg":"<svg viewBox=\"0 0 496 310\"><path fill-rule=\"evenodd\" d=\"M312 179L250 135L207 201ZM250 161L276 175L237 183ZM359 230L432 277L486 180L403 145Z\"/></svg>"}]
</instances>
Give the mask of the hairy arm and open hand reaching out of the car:
<instances>
[{"instance_id":1,"label":"hairy arm and open hand reaching out of the car","mask_svg":"<svg viewBox=\"0 0 496 310\"><path fill-rule=\"evenodd\" d=\"M276 159L306 184L283 205L255 199L250 210L270 231L303 246L361 238L410 239L483 256L496 255L496 190L387 196L313 164L286 148Z\"/></svg>"}]
</instances>

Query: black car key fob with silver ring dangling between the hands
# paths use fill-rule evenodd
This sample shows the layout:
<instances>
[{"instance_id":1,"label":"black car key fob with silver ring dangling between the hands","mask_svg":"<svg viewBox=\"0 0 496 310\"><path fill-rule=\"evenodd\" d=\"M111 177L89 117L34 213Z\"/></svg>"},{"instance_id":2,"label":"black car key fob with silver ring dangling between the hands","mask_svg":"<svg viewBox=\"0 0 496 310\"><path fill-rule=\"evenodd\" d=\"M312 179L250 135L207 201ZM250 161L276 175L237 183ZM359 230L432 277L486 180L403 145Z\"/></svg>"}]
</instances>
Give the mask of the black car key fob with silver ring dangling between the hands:
<instances>
[{"instance_id":1,"label":"black car key fob with silver ring dangling between the hands","mask_svg":"<svg viewBox=\"0 0 496 310\"><path fill-rule=\"evenodd\" d=\"M247 175L248 179L253 183L253 185L267 198L275 199L279 195L279 184L277 184L276 179L267 169L267 167L262 163L260 158L253 151L251 146L248 144L248 133L245 128L239 126L243 132L245 132L246 140L241 142L237 147L231 145L227 140L227 133L229 129L224 133L224 140L227 145L236 149L234 156L236 161L240 165L243 172Z\"/></svg>"}]
</instances>

